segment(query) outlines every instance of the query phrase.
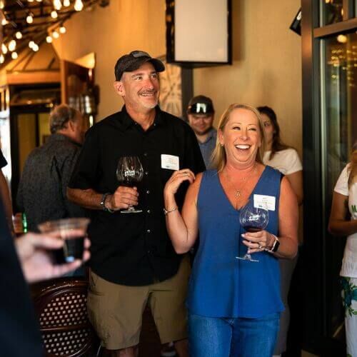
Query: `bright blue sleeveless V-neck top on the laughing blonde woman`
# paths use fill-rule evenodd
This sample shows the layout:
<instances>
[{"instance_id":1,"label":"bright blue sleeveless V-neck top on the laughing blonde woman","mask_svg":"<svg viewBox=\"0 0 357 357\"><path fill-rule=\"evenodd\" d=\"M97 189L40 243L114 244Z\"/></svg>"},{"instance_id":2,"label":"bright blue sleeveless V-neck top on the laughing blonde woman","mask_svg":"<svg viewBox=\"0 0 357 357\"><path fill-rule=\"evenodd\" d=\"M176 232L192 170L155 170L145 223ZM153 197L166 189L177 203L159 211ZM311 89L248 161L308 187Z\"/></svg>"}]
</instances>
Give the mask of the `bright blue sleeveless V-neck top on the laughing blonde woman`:
<instances>
[{"instance_id":1,"label":"bright blue sleeveless V-neck top on the laughing blonde woman","mask_svg":"<svg viewBox=\"0 0 357 357\"><path fill-rule=\"evenodd\" d=\"M274 196L266 231L278 235L281 173L266 166L251 193ZM190 313L207 317L260 318L283 311L278 259L253 253L258 262L242 261L246 253L237 211L223 191L216 170L203 173L198 192L199 246L188 286Z\"/></svg>"}]
</instances>

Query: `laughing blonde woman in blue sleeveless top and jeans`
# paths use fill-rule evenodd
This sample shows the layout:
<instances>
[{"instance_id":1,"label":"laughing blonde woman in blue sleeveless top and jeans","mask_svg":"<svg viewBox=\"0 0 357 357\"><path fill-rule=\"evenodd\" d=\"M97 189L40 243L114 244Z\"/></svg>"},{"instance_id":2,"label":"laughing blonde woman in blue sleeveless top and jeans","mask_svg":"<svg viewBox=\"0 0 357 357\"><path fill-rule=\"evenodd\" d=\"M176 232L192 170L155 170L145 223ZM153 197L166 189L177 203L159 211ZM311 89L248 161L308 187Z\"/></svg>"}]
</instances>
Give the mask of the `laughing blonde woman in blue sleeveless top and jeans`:
<instances>
[{"instance_id":1,"label":"laughing blonde woman in blue sleeveless top and jeans","mask_svg":"<svg viewBox=\"0 0 357 357\"><path fill-rule=\"evenodd\" d=\"M164 189L166 225L177 253L200 233L188 289L191 357L271 357L283 310L278 258L297 252L298 204L286 177L261 163L263 123L256 109L231 104L218 124L215 169L176 171ZM176 191L189 181L182 213ZM241 208L268 205L268 226L245 231ZM243 240L242 240L243 237ZM258 262L238 260L246 253Z\"/></svg>"}]
</instances>

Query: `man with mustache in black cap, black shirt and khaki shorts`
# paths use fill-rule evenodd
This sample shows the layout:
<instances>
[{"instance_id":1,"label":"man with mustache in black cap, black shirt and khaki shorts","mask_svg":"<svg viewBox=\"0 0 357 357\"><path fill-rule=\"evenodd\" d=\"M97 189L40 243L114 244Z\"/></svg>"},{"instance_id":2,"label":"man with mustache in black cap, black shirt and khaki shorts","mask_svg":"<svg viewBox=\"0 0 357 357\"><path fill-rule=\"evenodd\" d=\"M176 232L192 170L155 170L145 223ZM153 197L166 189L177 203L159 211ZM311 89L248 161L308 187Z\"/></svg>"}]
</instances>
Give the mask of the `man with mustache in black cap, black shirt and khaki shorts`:
<instances>
[{"instance_id":1,"label":"man with mustache in black cap, black shirt and khaki shorts","mask_svg":"<svg viewBox=\"0 0 357 357\"><path fill-rule=\"evenodd\" d=\"M164 207L171 174L205 169L191 128L158 106L158 72L164 64L144 51L122 56L114 89L124 107L89 129L68 195L92 210L91 277L88 308L101 343L111 356L136 356L141 315L149 303L161 343L175 341L186 351L184 300L187 257L179 256L166 231L165 215L181 209L187 185L176 193L177 207ZM137 156L144 177L136 187L116 177L121 156ZM121 213L129 206L141 213Z\"/></svg>"}]
</instances>

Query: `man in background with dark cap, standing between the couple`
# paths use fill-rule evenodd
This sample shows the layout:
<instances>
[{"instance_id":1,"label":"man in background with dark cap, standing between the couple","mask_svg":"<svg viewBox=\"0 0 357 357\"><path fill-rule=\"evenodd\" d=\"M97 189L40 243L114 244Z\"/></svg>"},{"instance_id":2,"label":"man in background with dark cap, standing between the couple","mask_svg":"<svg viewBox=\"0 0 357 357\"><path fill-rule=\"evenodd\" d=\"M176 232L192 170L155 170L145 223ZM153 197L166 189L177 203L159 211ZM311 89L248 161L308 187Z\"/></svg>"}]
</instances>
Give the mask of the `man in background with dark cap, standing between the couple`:
<instances>
[{"instance_id":1,"label":"man in background with dark cap, standing between the couple","mask_svg":"<svg viewBox=\"0 0 357 357\"><path fill-rule=\"evenodd\" d=\"M188 123L196 134L206 168L216 146L217 131L213 128L213 103L207 96L194 96L188 103Z\"/></svg>"}]
</instances>

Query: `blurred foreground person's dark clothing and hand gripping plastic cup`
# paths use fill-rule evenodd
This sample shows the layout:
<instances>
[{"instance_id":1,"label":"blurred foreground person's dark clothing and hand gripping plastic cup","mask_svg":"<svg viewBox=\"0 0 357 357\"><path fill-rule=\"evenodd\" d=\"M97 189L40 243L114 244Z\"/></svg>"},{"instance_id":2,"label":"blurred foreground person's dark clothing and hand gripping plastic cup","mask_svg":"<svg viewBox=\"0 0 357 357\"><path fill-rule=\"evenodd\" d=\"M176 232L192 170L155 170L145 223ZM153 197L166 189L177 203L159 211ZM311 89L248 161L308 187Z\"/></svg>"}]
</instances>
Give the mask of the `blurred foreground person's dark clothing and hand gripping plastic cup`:
<instances>
[{"instance_id":1,"label":"blurred foreground person's dark clothing and hand gripping plastic cup","mask_svg":"<svg viewBox=\"0 0 357 357\"><path fill-rule=\"evenodd\" d=\"M54 265L52 249L63 246L57 236L27 233L11 237L3 205L0 203L0 343L1 356L44 356L38 318L26 281L34 283L56 278L78 268L81 261ZM86 239L84 260L89 259ZM25 281L25 278L26 281Z\"/></svg>"}]
</instances>

